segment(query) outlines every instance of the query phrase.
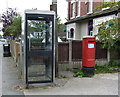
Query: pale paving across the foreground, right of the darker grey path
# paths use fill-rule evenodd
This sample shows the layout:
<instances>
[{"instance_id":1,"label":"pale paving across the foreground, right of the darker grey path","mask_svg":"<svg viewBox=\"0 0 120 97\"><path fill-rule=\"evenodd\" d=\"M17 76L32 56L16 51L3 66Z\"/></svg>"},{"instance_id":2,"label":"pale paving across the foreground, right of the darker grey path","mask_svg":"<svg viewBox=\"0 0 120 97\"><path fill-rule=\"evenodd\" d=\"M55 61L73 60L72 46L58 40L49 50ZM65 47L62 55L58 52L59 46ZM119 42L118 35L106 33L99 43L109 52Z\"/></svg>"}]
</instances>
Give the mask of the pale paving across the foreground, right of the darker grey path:
<instances>
[{"instance_id":1,"label":"pale paving across the foreground, right of the darker grey path","mask_svg":"<svg viewBox=\"0 0 120 97\"><path fill-rule=\"evenodd\" d=\"M70 78L62 87L31 89L25 95L118 95L118 74L100 74L93 78Z\"/></svg>"}]
</instances>

